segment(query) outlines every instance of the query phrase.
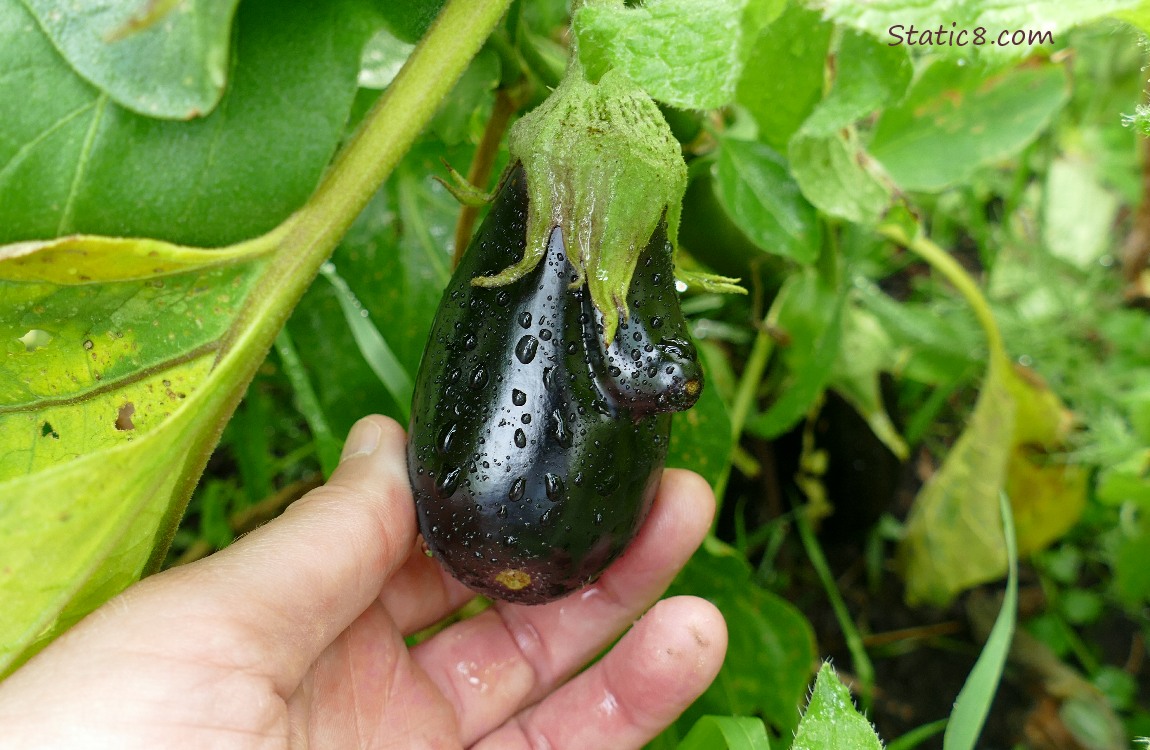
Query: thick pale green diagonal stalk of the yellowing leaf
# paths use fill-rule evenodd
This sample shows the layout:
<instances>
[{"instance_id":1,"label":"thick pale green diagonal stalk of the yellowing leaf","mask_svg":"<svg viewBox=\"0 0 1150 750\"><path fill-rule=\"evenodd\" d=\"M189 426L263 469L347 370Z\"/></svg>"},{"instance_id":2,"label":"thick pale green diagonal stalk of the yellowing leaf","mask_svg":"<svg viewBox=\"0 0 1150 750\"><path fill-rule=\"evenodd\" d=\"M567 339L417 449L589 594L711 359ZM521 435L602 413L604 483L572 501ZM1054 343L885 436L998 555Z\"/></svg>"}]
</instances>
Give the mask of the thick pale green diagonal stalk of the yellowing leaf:
<instances>
[{"instance_id":1,"label":"thick pale green diagonal stalk of the yellowing leaf","mask_svg":"<svg viewBox=\"0 0 1150 750\"><path fill-rule=\"evenodd\" d=\"M159 569L223 423L267 355L288 315L352 222L407 153L511 0L448 0L359 131L336 156L308 202L263 237L243 243L273 253L268 269L224 337L215 377L236 383L204 405L174 502L145 572ZM207 426L215 424L215 429Z\"/></svg>"}]
</instances>

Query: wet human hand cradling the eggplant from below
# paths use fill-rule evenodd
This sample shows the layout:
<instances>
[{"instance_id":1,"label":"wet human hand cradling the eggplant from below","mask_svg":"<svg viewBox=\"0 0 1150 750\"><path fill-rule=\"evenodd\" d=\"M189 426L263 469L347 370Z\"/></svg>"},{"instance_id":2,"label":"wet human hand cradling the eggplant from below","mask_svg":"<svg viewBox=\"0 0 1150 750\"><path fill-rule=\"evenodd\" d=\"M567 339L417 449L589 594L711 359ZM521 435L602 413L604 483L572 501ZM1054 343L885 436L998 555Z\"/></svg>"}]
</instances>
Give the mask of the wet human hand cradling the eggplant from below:
<instances>
[{"instance_id":1,"label":"wet human hand cradling the eggplant from below","mask_svg":"<svg viewBox=\"0 0 1150 750\"><path fill-rule=\"evenodd\" d=\"M719 612L656 604L714 511L668 469L593 586L497 602L408 649L474 595L416 543L405 437L373 416L331 480L206 560L129 588L0 683L0 747L638 748L714 679Z\"/></svg>"}]
</instances>

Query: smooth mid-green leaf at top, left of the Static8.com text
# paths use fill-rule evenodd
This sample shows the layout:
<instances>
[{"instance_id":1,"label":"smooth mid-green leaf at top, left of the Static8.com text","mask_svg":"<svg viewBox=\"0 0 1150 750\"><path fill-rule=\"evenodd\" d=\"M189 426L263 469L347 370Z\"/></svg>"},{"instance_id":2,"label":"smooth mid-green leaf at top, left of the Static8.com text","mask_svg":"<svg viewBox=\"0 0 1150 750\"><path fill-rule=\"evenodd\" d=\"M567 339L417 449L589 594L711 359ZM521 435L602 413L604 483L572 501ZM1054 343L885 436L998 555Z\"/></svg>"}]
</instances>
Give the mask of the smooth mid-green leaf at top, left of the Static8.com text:
<instances>
[{"instance_id":1,"label":"smooth mid-green leaf at top, left of the Static8.com text","mask_svg":"<svg viewBox=\"0 0 1150 750\"><path fill-rule=\"evenodd\" d=\"M736 101L759 125L759 139L777 151L823 93L823 68L834 26L816 10L791 2L764 31L746 62Z\"/></svg>"}]
</instances>

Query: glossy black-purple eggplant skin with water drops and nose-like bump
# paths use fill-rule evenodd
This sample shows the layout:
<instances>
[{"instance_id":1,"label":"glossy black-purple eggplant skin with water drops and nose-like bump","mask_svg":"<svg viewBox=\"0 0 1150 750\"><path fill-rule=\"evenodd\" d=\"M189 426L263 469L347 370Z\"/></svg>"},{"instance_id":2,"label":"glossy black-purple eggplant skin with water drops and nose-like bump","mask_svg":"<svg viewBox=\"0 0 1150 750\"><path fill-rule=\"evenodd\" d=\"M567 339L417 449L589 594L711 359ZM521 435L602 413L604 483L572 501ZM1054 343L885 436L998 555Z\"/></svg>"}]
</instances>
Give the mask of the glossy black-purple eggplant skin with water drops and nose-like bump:
<instances>
[{"instance_id":1,"label":"glossy black-purple eggplant skin with water drops and nose-like bump","mask_svg":"<svg viewBox=\"0 0 1150 750\"><path fill-rule=\"evenodd\" d=\"M693 403L702 373L682 344L661 234L606 350L586 286L570 288L558 229L523 278L471 285L523 257L527 200L516 167L444 292L407 464L428 551L481 594L540 604L593 581L634 538L662 472L669 412ZM656 273L661 292L649 289Z\"/></svg>"}]
</instances>

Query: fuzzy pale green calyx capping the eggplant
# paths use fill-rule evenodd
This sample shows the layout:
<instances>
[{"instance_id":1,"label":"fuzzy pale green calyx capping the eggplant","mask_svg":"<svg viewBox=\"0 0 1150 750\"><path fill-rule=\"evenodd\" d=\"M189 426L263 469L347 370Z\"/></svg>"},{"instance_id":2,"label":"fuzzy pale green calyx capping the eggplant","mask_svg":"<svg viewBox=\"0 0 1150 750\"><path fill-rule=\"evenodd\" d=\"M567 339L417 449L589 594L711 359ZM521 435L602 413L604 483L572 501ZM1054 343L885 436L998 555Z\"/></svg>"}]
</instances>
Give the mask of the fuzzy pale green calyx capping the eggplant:
<instances>
[{"instance_id":1,"label":"fuzzy pale green calyx capping the eggplant","mask_svg":"<svg viewBox=\"0 0 1150 750\"><path fill-rule=\"evenodd\" d=\"M662 113L622 71L598 83L574 62L559 87L511 130L512 162L527 173L523 259L476 286L501 286L530 273L551 231L562 230L575 285L585 281L603 314L604 340L628 314L627 290L659 222L677 245L687 164Z\"/></svg>"}]
</instances>

